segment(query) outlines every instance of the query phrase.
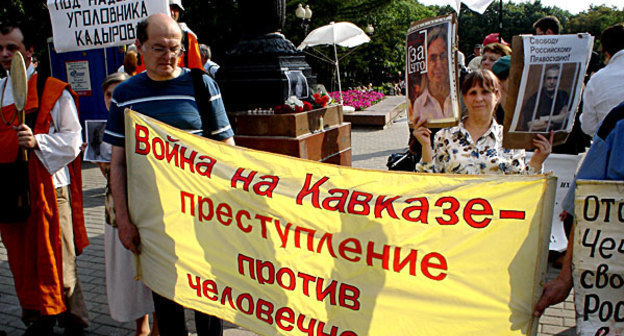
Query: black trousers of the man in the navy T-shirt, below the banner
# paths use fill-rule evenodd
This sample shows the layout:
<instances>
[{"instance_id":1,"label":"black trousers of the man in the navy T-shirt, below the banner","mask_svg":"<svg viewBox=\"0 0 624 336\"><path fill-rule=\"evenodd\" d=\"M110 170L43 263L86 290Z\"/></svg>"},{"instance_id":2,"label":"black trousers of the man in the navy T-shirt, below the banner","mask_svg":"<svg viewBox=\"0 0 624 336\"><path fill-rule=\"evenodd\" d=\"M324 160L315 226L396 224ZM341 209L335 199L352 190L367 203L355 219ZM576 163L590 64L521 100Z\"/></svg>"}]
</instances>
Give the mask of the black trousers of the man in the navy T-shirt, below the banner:
<instances>
[{"instance_id":1,"label":"black trousers of the man in the navy T-shirt, below the banner","mask_svg":"<svg viewBox=\"0 0 624 336\"><path fill-rule=\"evenodd\" d=\"M184 307L152 292L158 331L162 336L187 336ZM223 336L223 321L218 317L195 311L198 336Z\"/></svg>"}]
</instances>

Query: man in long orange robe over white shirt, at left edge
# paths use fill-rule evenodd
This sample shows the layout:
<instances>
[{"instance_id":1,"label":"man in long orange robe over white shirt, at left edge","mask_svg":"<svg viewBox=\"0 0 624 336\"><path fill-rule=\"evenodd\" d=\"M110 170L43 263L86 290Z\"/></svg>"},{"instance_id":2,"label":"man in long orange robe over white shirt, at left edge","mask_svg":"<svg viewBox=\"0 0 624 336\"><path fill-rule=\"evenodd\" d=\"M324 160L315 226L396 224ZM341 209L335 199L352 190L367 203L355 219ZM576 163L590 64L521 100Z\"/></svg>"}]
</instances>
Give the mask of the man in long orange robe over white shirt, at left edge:
<instances>
[{"instance_id":1,"label":"man in long orange robe over white shirt, at left edge","mask_svg":"<svg viewBox=\"0 0 624 336\"><path fill-rule=\"evenodd\" d=\"M53 335L57 320L66 335L81 335L88 314L76 256L88 245L88 238L78 157L82 144L78 97L67 83L38 78L31 64L32 36L27 25L0 25L0 64L9 70L14 53L20 51L28 76L23 123L17 121L10 78L0 80L0 173L5 172L3 179L12 179L6 176L6 168L22 162L18 155L25 149L28 184L24 189L31 204L22 218L7 219L16 209L0 202L0 233L27 325L24 335ZM3 199L8 200L12 191L3 190Z\"/></svg>"}]
</instances>

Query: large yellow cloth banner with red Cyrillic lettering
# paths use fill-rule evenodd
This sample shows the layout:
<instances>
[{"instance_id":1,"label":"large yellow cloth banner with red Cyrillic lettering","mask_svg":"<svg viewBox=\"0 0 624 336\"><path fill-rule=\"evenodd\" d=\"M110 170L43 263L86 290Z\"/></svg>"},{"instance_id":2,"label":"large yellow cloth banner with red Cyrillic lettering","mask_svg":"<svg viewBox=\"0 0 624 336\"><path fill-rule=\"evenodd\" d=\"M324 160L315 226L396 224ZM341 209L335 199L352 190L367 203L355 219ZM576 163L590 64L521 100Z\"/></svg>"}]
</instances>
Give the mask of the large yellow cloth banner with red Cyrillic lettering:
<instances>
[{"instance_id":1,"label":"large yellow cloth banner with red Cyrillic lettering","mask_svg":"<svg viewBox=\"0 0 624 336\"><path fill-rule=\"evenodd\" d=\"M534 334L555 178L355 169L132 111L143 281L264 335Z\"/></svg>"}]
</instances>

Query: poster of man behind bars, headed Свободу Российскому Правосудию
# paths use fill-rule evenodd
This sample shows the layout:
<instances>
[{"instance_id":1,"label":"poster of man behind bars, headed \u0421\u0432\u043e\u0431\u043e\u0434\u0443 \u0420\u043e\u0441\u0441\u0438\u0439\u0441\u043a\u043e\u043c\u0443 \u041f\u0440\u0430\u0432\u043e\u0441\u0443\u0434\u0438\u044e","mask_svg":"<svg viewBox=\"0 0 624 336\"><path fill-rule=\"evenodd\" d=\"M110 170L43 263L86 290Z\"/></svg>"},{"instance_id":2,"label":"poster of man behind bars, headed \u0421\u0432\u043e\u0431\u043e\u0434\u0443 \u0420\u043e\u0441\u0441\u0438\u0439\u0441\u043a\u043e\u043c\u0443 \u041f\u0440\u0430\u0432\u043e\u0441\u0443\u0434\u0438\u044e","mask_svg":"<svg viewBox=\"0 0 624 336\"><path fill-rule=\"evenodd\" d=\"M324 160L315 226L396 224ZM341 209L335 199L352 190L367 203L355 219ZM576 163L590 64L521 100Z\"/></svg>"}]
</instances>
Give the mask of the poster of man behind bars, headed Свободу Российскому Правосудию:
<instances>
[{"instance_id":1,"label":"poster of man behind bars, headed \u0421\u0432\u043e\u0431\u043e\u0434\u0443 \u0420\u043e\u0441\u0441\u0438\u0439\u0441\u043a\u043e\u043c\u0443 \u041f\u0440\u0430\u0432\u043e\u0441\u0443\u0434\u0438\u044e","mask_svg":"<svg viewBox=\"0 0 624 336\"><path fill-rule=\"evenodd\" d=\"M530 149L534 134L550 131L555 144L565 142L581 101L593 41L589 34L514 37L512 89L504 105L504 137L513 139L508 148Z\"/></svg>"}]
</instances>

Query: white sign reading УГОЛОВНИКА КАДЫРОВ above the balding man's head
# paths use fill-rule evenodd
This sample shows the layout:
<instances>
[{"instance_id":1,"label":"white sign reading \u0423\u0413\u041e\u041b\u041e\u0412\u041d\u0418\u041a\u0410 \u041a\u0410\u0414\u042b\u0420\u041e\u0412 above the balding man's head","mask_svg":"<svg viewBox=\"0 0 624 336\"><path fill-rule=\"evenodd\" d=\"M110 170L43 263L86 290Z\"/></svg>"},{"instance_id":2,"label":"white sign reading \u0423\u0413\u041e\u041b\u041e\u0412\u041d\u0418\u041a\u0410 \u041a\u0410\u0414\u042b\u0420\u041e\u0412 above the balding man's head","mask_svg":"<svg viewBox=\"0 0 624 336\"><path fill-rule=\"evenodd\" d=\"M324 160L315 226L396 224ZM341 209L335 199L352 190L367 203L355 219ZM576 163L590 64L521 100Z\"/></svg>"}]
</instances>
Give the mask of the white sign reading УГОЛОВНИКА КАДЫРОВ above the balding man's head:
<instances>
[{"instance_id":1,"label":"white sign reading \u0423\u0413\u041e\u041b\u041e\u0412\u041d\u0418\u041a\u0410 \u041a\u0410\u0414\u042b\u0420\u041e\u0412 above the balding man's head","mask_svg":"<svg viewBox=\"0 0 624 336\"><path fill-rule=\"evenodd\" d=\"M106 48L136 40L136 24L169 13L167 0L48 0L57 52Z\"/></svg>"}]
</instances>

